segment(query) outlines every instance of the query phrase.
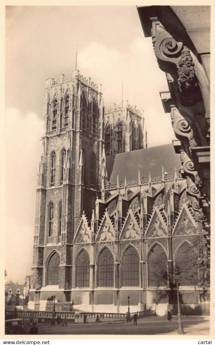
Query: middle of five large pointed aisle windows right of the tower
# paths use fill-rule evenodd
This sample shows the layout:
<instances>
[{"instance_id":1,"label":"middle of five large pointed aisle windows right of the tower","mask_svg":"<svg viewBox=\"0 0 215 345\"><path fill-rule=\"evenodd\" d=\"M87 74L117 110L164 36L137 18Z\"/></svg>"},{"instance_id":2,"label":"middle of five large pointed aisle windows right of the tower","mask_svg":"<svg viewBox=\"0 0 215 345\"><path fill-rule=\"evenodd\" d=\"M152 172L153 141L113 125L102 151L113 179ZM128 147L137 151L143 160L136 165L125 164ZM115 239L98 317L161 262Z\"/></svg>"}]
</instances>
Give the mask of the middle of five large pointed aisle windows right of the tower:
<instances>
[{"instance_id":1,"label":"middle of five large pointed aisle windows right of the tower","mask_svg":"<svg viewBox=\"0 0 215 345\"><path fill-rule=\"evenodd\" d=\"M123 255L122 286L140 286L139 255L132 246L129 246Z\"/></svg>"}]
</instances>

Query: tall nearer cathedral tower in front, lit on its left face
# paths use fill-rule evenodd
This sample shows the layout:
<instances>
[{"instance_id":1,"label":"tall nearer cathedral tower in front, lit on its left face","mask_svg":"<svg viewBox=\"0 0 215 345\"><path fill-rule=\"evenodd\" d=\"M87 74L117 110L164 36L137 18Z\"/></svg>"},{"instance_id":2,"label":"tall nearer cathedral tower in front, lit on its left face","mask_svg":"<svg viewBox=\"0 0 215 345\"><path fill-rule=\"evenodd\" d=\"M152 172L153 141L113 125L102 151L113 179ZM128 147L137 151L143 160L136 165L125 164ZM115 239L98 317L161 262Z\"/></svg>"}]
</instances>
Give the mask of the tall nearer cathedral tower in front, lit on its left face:
<instances>
[{"instance_id":1,"label":"tall nearer cathedral tower in front, lit on its left face","mask_svg":"<svg viewBox=\"0 0 215 345\"><path fill-rule=\"evenodd\" d=\"M57 80L46 80L43 114L45 134L29 296L29 307L35 310L42 310L50 291L56 295L56 301L71 303L68 290L72 281L74 229L83 210L86 216L92 215L101 190L104 144L101 84L84 78L78 70Z\"/></svg>"}]
</instances>

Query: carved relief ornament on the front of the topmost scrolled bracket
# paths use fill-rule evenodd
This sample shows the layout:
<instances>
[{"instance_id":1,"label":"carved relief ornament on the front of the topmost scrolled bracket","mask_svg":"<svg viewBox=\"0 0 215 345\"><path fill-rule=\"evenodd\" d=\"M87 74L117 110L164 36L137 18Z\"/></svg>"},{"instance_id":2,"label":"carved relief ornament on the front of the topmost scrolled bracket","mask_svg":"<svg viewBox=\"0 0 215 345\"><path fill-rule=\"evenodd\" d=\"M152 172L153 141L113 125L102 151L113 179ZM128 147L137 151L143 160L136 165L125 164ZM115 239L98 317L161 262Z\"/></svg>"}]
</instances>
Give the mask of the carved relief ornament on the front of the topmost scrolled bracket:
<instances>
[{"instance_id":1,"label":"carved relief ornament on the front of the topmost scrolled bracket","mask_svg":"<svg viewBox=\"0 0 215 345\"><path fill-rule=\"evenodd\" d=\"M178 88L181 92L197 87L194 62L190 50L185 46L178 61Z\"/></svg>"}]
</instances>

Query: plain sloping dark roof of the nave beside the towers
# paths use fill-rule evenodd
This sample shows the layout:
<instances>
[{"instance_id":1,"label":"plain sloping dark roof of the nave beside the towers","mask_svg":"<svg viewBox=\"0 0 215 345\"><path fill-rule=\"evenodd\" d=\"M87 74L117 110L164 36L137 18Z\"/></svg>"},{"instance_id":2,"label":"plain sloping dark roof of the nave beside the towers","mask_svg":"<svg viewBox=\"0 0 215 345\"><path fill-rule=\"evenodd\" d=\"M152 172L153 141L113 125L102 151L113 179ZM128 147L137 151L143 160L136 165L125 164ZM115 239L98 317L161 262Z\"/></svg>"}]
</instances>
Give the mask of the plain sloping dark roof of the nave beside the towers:
<instances>
[{"instance_id":1,"label":"plain sloping dark roof of the nave beside the towers","mask_svg":"<svg viewBox=\"0 0 215 345\"><path fill-rule=\"evenodd\" d=\"M126 180L135 181L140 178L159 177L162 175L162 165L167 175L174 174L175 168L181 167L180 155L176 154L172 144L150 147L106 157L108 179L116 183L117 175L119 182Z\"/></svg>"}]
</instances>

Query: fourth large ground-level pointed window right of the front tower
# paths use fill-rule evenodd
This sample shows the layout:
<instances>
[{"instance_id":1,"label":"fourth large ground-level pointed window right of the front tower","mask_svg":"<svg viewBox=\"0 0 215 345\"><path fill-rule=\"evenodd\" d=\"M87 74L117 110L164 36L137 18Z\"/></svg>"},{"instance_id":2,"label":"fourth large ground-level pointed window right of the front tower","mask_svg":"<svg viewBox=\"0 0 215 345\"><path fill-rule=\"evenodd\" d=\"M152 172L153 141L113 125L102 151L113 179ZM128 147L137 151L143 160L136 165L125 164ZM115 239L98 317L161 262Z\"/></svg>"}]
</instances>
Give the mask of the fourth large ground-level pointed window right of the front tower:
<instances>
[{"instance_id":1,"label":"fourth large ground-level pointed window right of the front tower","mask_svg":"<svg viewBox=\"0 0 215 345\"><path fill-rule=\"evenodd\" d=\"M167 285L167 257L163 248L156 244L148 256L148 286Z\"/></svg>"}]
</instances>

